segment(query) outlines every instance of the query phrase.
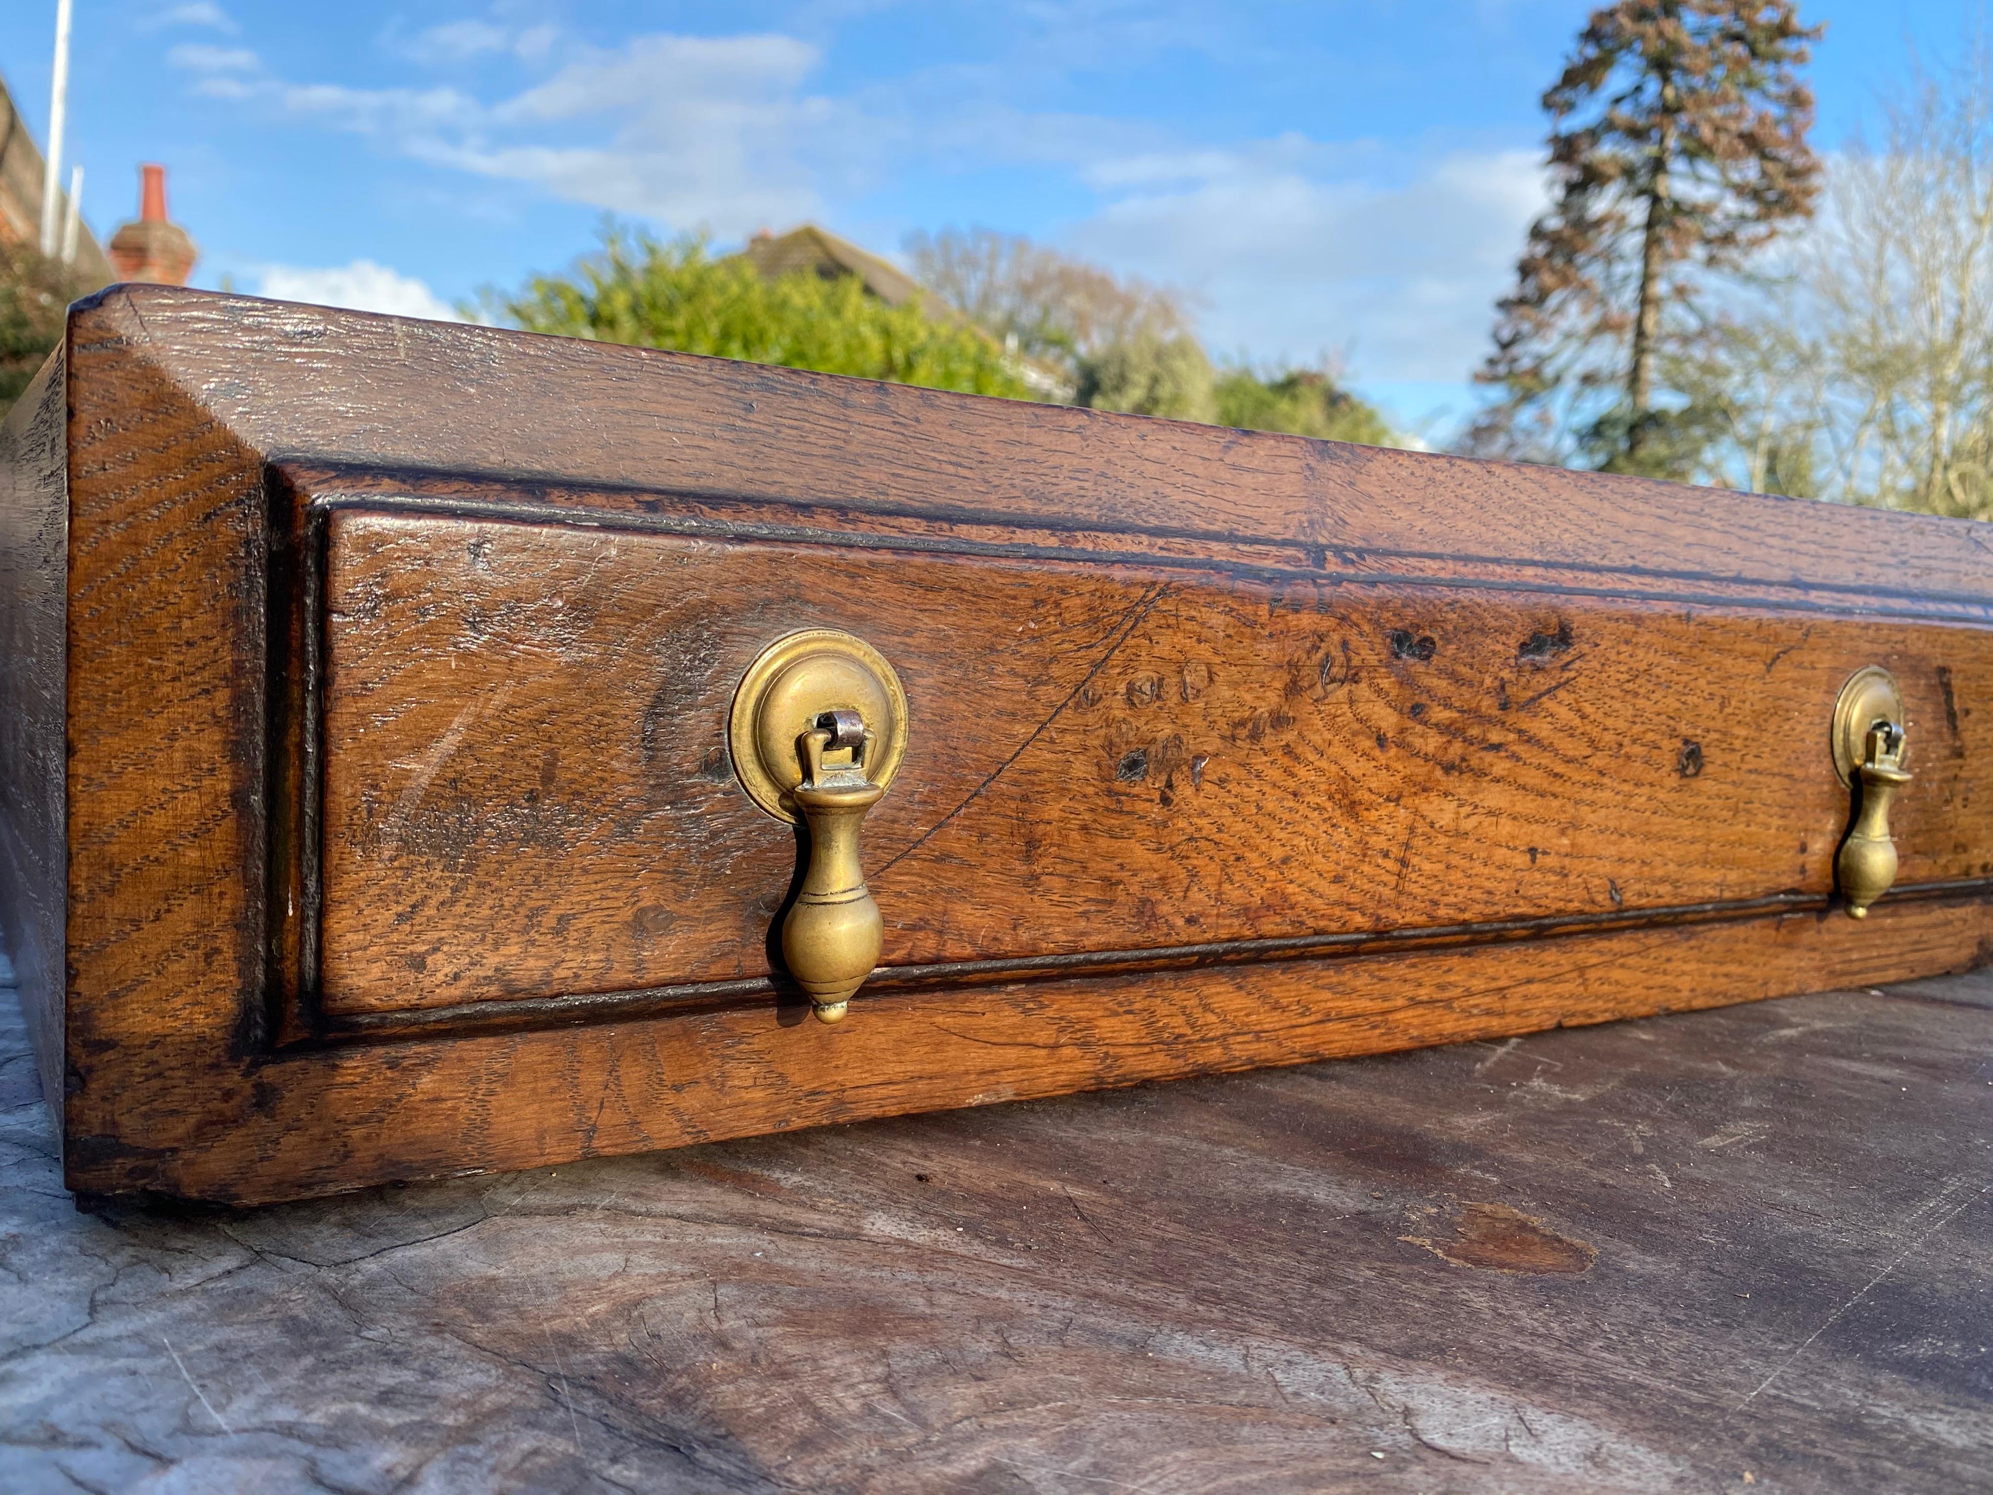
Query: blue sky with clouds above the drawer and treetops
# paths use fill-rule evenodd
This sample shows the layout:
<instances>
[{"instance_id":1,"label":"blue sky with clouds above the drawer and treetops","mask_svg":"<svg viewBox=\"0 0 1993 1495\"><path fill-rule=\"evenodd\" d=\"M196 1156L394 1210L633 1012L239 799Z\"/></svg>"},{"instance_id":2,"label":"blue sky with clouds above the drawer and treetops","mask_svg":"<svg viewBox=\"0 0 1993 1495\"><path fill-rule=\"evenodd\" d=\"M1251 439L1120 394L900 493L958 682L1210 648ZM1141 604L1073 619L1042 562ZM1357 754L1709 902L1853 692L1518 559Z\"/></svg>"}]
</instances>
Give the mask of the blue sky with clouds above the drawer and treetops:
<instances>
[{"instance_id":1,"label":"blue sky with clouds above the drawer and treetops","mask_svg":"<svg viewBox=\"0 0 1993 1495\"><path fill-rule=\"evenodd\" d=\"M1586 4L727 6L74 0L84 217L165 161L197 285L448 315L604 213L893 253L991 225L1188 289L1220 357L1339 361L1445 435L1541 205L1537 100ZM0 8L42 134L54 0ZM1816 142L1977 0L1836 0Z\"/></svg>"}]
</instances>

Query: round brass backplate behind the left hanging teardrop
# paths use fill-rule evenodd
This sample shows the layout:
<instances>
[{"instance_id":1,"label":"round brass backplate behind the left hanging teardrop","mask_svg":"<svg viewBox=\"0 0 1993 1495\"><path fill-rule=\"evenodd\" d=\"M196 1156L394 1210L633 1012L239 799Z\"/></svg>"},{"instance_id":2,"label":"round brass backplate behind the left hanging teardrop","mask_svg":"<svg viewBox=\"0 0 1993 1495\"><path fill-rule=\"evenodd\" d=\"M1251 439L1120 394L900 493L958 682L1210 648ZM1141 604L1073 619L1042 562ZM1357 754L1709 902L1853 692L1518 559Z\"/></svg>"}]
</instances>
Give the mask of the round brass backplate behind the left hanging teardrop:
<instances>
[{"instance_id":1,"label":"round brass backplate behind the left hanging teardrop","mask_svg":"<svg viewBox=\"0 0 1993 1495\"><path fill-rule=\"evenodd\" d=\"M727 751L747 795L795 823L789 789L803 781L795 742L823 712L857 712L873 734L865 777L881 789L907 755L907 694L885 656L839 628L805 628L761 650L733 692Z\"/></svg>"}]
</instances>

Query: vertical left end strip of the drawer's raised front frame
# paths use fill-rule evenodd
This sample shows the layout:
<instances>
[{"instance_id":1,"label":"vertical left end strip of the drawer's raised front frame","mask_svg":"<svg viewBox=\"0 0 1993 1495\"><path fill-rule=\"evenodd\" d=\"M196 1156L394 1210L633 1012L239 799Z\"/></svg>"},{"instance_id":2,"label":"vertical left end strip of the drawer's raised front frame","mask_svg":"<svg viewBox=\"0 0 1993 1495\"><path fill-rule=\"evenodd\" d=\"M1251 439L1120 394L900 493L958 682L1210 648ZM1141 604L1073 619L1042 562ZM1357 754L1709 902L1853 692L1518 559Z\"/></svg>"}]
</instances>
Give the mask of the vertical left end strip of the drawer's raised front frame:
<instances>
[{"instance_id":1,"label":"vertical left end strip of the drawer's raised front frame","mask_svg":"<svg viewBox=\"0 0 1993 1495\"><path fill-rule=\"evenodd\" d=\"M269 1046L261 454L161 377L128 301L70 313L64 1176L239 1122ZM143 1106L142 1106L143 1098Z\"/></svg>"}]
</instances>

